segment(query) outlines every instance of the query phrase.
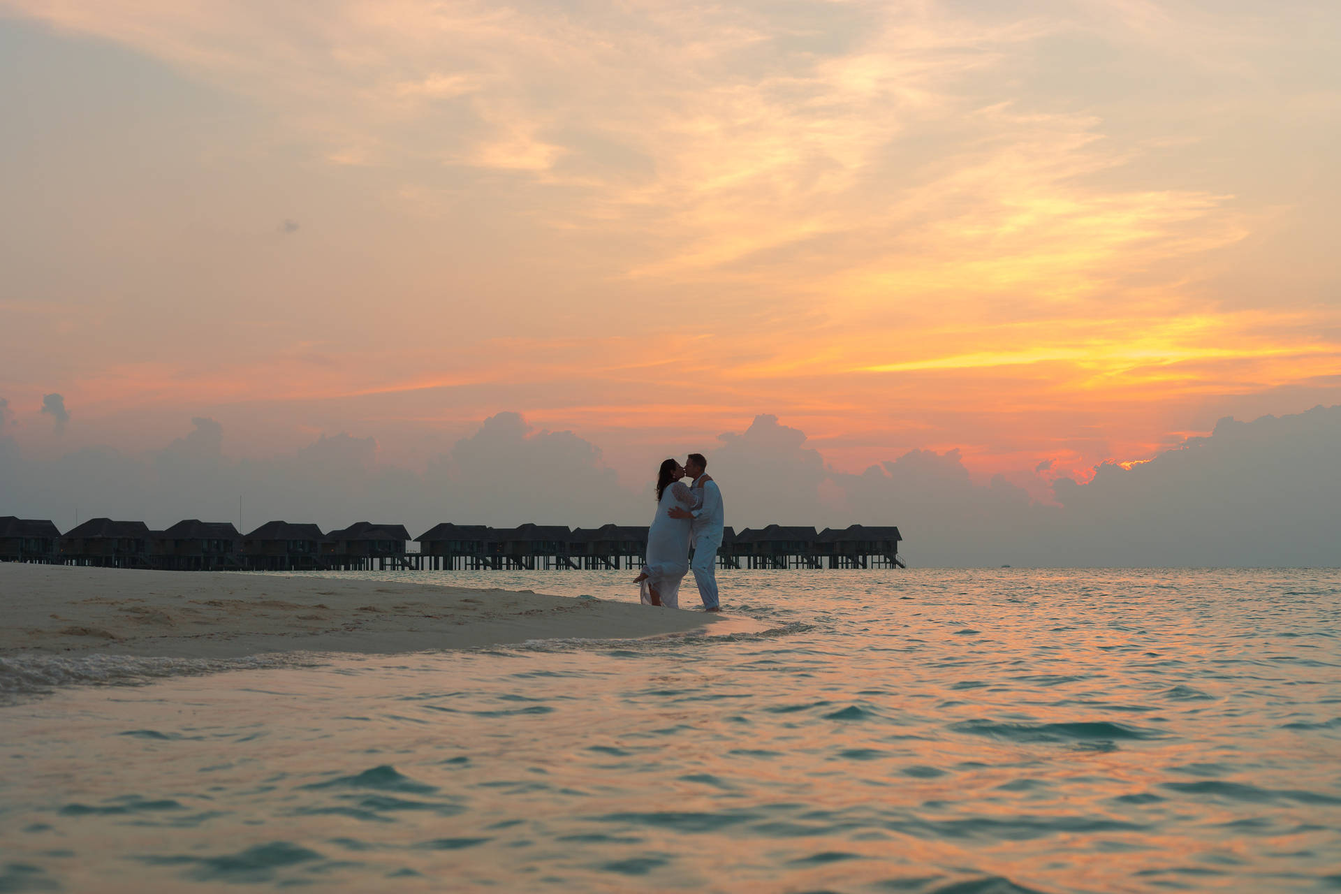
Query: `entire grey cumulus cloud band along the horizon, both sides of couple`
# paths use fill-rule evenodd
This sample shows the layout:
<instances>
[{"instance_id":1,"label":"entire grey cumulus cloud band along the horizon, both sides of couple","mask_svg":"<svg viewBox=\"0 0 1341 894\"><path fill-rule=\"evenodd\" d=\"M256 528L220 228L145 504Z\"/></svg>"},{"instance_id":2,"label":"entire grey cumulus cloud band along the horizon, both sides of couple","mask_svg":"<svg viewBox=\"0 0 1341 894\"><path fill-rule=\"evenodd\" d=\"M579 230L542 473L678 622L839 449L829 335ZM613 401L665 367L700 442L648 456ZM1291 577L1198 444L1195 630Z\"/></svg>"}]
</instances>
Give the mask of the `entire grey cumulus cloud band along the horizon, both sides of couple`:
<instances>
[{"instance_id":1,"label":"entire grey cumulus cloud band along the horizon, both sides of couple","mask_svg":"<svg viewBox=\"0 0 1341 894\"><path fill-rule=\"evenodd\" d=\"M597 445L536 429L518 413L484 420L422 472L384 464L377 441L322 436L294 453L235 461L224 432L197 417L162 450L86 448L23 456L0 438L0 511L52 517L439 521L590 527L648 524L648 493L616 481ZM1336 566L1341 521L1341 406L1252 422L1223 420L1148 462L1058 478L1041 504L998 476L975 481L957 450L909 450L860 474L837 472L806 434L759 416L703 450L727 523L898 525L915 566Z\"/></svg>"}]
</instances>

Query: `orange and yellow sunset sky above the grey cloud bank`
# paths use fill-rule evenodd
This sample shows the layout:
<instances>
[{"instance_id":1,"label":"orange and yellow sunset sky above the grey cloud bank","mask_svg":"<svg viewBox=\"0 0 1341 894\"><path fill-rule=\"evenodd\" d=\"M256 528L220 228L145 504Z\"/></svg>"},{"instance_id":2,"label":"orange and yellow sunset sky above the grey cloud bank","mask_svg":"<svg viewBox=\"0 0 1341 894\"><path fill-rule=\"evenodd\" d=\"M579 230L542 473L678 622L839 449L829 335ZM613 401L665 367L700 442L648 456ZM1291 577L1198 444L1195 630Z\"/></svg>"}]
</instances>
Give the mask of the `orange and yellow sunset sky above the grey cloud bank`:
<instances>
[{"instance_id":1,"label":"orange and yellow sunset sky above the grey cloud bank","mask_svg":"<svg viewBox=\"0 0 1341 894\"><path fill-rule=\"evenodd\" d=\"M0 0L0 421L1088 480L1341 403L1338 58L1330 0Z\"/></svg>"}]
</instances>

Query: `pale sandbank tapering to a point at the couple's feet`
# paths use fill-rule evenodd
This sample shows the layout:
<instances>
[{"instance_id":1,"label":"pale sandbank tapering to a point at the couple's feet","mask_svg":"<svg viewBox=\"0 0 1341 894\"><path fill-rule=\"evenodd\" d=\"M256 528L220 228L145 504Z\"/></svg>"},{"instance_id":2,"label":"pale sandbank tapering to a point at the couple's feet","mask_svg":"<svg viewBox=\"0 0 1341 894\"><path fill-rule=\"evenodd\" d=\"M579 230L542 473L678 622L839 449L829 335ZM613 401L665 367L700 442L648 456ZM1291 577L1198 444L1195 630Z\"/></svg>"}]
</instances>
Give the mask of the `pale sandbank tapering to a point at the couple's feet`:
<instances>
[{"instance_id":1,"label":"pale sandbank tapering to a point at the couple's feet","mask_svg":"<svg viewBox=\"0 0 1341 894\"><path fill-rule=\"evenodd\" d=\"M0 655L169 658L632 639L703 631L728 621L530 591L19 563L0 563Z\"/></svg>"}]
</instances>

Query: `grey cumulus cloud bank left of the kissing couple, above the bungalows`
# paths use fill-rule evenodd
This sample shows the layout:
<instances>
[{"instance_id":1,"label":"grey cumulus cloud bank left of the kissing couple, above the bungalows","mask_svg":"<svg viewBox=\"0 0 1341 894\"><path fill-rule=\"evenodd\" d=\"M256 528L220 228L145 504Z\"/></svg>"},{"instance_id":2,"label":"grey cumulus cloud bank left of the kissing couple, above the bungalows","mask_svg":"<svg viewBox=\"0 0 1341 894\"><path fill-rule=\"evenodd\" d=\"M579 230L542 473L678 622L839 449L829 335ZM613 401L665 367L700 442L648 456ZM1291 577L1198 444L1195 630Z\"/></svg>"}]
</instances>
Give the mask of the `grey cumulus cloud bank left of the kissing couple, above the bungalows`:
<instances>
[{"instance_id":1,"label":"grey cumulus cloud bank left of the kissing couple, above the bungalows","mask_svg":"<svg viewBox=\"0 0 1341 894\"><path fill-rule=\"evenodd\" d=\"M485 420L477 432L434 457L424 473L380 461L377 441L322 434L292 453L233 460L224 429L196 417L192 430L161 450L127 456L87 448L66 456L23 456L0 441L5 513L60 519L138 517L150 527L180 519L406 524L416 533L439 521L464 524L646 524L652 505L620 487L601 450L573 432L538 430L516 413ZM13 449L11 449L13 448Z\"/></svg>"}]
</instances>

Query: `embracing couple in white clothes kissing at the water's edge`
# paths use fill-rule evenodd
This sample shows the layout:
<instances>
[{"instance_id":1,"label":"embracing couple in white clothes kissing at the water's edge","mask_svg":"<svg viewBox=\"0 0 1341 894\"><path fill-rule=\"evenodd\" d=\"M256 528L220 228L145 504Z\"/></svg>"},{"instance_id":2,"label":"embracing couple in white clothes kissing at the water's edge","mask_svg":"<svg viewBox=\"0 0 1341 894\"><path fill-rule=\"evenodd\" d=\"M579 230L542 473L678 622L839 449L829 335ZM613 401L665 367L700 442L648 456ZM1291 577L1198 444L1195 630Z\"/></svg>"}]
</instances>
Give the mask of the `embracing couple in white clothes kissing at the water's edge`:
<instances>
[{"instance_id":1,"label":"embracing couple in white clothes kissing at the water's edge","mask_svg":"<svg viewBox=\"0 0 1341 894\"><path fill-rule=\"evenodd\" d=\"M666 460L657 472L657 515L648 531L648 560L634 578L642 604L680 607L680 582L693 568L704 611L720 611L717 550L721 548L721 491L708 474L708 461L691 453L684 465ZM681 478L692 478L685 485ZM693 544L693 564L689 546Z\"/></svg>"}]
</instances>

